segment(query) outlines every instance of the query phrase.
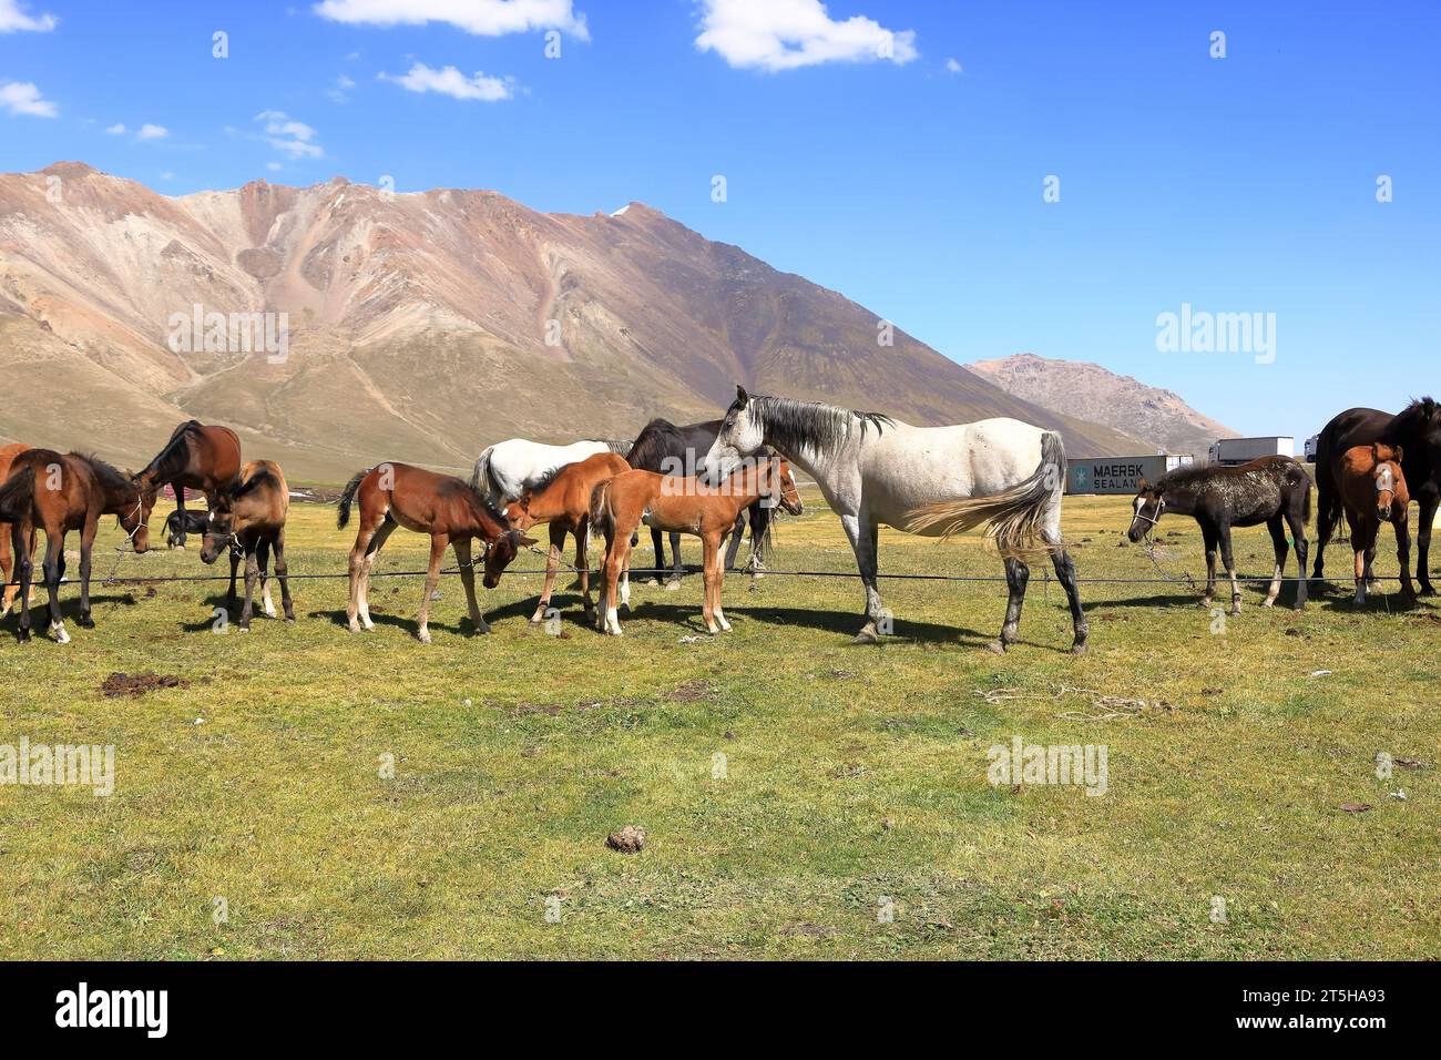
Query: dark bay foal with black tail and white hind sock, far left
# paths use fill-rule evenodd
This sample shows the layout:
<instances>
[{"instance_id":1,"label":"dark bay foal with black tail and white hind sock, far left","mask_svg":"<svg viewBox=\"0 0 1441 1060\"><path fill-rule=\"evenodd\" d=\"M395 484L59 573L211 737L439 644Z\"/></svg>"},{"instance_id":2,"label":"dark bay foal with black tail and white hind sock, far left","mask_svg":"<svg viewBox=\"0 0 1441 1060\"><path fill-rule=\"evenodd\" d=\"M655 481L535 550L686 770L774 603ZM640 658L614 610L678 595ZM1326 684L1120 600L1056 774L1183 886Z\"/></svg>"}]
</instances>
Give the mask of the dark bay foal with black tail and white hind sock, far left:
<instances>
[{"instance_id":1,"label":"dark bay foal with black tail and white hind sock, far left","mask_svg":"<svg viewBox=\"0 0 1441 1060\"><path fill-rule=\"evenodd\" d=\"M20 581L20 643L30 639L30 578L35 558L30 545L36 529L45 531L45 587L49 591L50 635L66 645L61 616L61 578L65 577L65 535L81 534L81 614L84 629L95 626L91 619L89 578L91 552L102 515L120 519L137 552L150 548L146 524L156 503L153 489L140 489L125 474L104 460L81 453L56 453L32 449L16 456L10 477L0 485L0 521L10 524L10 545L14 551Z\"/></svg>"}]
</instances>

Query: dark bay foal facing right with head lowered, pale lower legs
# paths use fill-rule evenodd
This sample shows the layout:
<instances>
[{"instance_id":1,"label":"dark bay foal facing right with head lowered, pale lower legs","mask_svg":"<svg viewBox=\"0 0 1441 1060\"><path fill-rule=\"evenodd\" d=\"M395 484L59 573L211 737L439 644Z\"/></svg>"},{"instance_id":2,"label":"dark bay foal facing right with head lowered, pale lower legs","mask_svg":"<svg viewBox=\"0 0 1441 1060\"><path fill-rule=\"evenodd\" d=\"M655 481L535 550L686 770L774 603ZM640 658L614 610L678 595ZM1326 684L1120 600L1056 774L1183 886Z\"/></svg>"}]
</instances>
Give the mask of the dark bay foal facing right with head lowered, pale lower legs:
<instances>
[{"instance_id":1,"label":"dark bay foal facing right with head lowered, pale lower legs","mask_svg":"<svg viewBox=\"0 0 1441 1060\"><path fill-rule=\"evenodd\" d=\"M357 472L340 495L337 528L344 529L350 522L350 508L356 500L360 502L360 524L356 529L356 544L350 549L350 604L346 609L352 633L375 629L375 623L370 622L370 571L375 568L376 552L396 526L431 535L431 562L425 575L425 594L421 597L419 627L415 633L419 642L431 643L431 594L441 580L441 560L445 557L447 545L455 548L470 620L477 633L490 632L476 603L476 568L470 561L470 542L473 538L486 542L484 586L494 588L500 584L501 573L516 558L516 552L522 547L533 545L535 539L513 529L506 516L464 480L452 474L437 474L424 467L385 463Z\"/></svg>"}]
</instances>

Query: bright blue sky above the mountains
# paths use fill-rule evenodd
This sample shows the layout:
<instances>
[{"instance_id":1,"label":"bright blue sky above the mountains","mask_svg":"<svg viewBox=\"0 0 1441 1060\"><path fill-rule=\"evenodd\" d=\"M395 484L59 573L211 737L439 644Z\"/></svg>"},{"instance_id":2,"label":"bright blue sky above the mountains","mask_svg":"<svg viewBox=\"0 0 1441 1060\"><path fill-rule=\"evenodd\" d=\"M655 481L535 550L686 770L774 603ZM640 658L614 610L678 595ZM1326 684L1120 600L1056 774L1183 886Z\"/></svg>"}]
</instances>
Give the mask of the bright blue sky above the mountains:
<instances>
[{"instance_id":1,"label":"bright blue sky above the mountains","mask_svg":"<svg viewBox=\"0 0 1441 1060\"><path fill-rule=\"evenodd\" d=\"M1300 444L1441 392L1438 30L1429 3L0 0L0 169L635 199L953 359L1095 361ZM1274 313L1274 361L1159 350L1183 303Z\"/></svg>"}]
</instances>

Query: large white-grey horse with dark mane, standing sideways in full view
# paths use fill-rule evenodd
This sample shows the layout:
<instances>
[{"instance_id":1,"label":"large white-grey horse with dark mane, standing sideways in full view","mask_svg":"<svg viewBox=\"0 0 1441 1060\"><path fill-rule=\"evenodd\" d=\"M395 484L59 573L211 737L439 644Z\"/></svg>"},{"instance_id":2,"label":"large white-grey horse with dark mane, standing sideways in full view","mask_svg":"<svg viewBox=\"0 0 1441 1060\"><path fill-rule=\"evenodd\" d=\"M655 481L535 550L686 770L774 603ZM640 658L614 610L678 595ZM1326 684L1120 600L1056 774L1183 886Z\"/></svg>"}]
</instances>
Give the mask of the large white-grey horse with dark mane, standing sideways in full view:
<instances>
[{"instance_id":1,"label":"large white-grey horse with dark mane, standing sideways in full view","mask_svg":"<svg viewBox=\"0 0 1441 1060\"><path fill-rule=\"evenodd\" d=\"M1006 560L1010 600L991 650L1016 643L1030 570L1050 555L1066 590L1075 629L1072 650L1087 650L1089 626L1076 591L1075 564L1061 536L1065 449L1061 436L1019 420L955 427L912 427L878 412L813 401L751 397L736 387L705 459L712 482L762 446L810 474L850 538L866 587L866 623L856 643L878 643L886 617L876 587L880 524L927 536L986 526Z\"/></svg>"}]
</instances>

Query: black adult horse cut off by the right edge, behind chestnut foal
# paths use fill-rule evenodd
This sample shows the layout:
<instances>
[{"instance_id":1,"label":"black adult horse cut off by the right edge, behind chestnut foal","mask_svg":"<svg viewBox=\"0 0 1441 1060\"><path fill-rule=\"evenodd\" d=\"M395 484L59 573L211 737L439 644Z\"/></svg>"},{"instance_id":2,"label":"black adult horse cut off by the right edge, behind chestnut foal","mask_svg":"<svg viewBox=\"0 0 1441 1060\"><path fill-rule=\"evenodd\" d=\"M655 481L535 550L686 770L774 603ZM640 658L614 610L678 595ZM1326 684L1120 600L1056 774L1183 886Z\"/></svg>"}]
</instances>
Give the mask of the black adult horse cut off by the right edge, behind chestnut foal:
<instances>
[{"instance_id":1,"label":"black adult horse cut off by the right edge, behind chestnut foal","mask_svg":"<svg viewBox=\"0 0 1441 1060\"><path fill-rule=\"evenodd\" d=\"M1441 505L1441 404L1431 398L1412 401L1396 415L1375 408L1347 408L1321 431L1316 441L1316 568L1313 581L1323 580L1323 555L1342 518L1342 495L1336 480L1346 450L1382 443L1402 451L1401 473L1412 499L1421 505L1417 528L1417 581L1421 596L1435 596L1431 587L1431 524ZM1366 575L1370 577L1368 567Z\"/></svg>"}]
</instances>

